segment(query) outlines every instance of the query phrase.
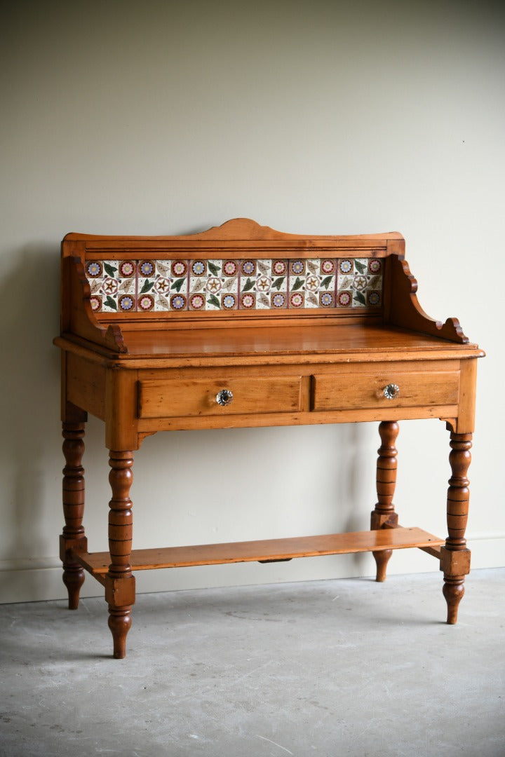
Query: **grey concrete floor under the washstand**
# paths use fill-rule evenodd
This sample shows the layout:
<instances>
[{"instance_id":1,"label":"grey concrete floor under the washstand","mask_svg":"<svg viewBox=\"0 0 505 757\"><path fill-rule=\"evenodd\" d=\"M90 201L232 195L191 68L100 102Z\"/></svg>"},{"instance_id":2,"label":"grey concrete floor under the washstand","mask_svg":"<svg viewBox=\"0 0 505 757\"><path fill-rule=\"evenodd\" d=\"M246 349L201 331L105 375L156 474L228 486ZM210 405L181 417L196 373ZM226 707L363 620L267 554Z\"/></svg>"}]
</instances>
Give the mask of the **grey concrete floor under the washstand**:
<instances>
[{"instance_id":1,"label":"grey concrete floor under the washstand","mask_svg":"<svg viewBox=\"0 0 505 757\"><path fill-rule=\"evenodd\" d=\"M505 569L0 606L0 755L503 757Z\"/></svg>"}]
</instances>

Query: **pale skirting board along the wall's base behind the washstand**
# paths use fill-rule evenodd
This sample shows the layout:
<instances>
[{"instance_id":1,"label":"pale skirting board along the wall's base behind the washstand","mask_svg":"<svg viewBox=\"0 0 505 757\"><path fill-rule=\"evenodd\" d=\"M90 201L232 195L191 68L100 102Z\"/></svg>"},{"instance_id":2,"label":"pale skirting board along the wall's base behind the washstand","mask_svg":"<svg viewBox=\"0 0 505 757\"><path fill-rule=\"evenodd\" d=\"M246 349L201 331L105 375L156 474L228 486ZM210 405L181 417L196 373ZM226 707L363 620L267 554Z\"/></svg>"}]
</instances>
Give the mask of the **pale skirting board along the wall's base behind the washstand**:
<instances>
[{"instance_id":1,"label":"pale skirting board along the wall's base behind the washstand","mask_svg":"<svg viewBox=\"0 0 505 757\"><path fill-rule=\"evenodd\" d=\"M505 534L469 536L468 544L472 550L472 569L505 566ZM267 565L245 562L138 571L136 586L137 592L142 593L331 578L368 578L373 577L374 570L373 556L361 553L306 557ZM438 561L420 550L394 550L388 564L390 576L433 571L438 571ZM103 595L101 584L86 575L81 597ZM67 590L61 581L61 563L58 558L0 561L0 604L63 600L66 597Z\"/></svg>"}]
</instances>

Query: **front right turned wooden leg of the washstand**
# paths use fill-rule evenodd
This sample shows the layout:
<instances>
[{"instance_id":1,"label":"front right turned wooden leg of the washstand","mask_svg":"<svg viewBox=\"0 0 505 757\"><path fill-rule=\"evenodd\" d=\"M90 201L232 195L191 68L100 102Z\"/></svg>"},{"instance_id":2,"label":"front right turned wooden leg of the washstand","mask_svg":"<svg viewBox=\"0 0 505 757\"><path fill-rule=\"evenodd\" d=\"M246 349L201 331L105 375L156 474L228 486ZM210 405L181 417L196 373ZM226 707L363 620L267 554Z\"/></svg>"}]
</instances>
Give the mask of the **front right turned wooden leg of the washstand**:
<instances>
[{"instance_id":1,"label":"front right turned wooden leg of the washstand","mask_svg":"<svg viewBox=\"0 0 505 757\"><path fill-rule=\"evenodd\" d=\"M468 519L469 480L466 478L472 455L471 434L450 435L450 469L447 491L447 531L441 547L440 568L444 572L444 597L447 623L457 622L457 609L465 593L465 576L470 572L470 550L466 549L465 529Z\"/></svg>"}]
</instances>

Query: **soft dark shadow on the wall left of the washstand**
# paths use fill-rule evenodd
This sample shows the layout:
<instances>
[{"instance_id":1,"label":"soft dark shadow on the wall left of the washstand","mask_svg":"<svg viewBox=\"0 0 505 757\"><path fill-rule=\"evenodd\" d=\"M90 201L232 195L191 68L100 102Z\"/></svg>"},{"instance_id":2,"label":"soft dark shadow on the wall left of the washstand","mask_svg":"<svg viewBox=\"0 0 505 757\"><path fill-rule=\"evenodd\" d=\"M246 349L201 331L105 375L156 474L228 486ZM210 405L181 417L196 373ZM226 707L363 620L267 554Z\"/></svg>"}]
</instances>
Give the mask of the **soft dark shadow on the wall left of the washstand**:
<instances>
[{"instance_id":1,"label":"soft dark shadow on the wall left of the washstand","mask_svg":"<svg viewBox=\"0 0 505 757\"><path fill-rule=\"evenodd\" d=\"M6 259L5 256L4 259ZM40 543L45 492L59 454L60 369L51 340L59 332L59 245L30 243L12 251L2 282L2 522L7 558L54 553Z\"/></svg>"}]
</instances>

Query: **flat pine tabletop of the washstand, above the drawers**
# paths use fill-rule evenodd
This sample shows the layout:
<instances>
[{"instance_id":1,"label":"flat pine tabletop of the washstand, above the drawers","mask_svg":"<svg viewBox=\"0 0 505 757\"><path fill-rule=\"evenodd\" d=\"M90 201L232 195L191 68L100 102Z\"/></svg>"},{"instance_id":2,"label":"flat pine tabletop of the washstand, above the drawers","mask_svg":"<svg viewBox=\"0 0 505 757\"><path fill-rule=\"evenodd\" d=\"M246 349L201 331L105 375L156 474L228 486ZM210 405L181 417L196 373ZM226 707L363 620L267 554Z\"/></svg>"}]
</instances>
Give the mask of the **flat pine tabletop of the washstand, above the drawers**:
<instances>
[{"instance_id":1,"label":"flat pine tabletop of the washstand, above the drawers","mask_svg":"<svg viewBox=\"0 0 505 757\"><path fill-rule=\"evenodd\" d=\"M188 360L191 363L198 359L201 362L225 358L236 363L237 360L244 362L251 357L257 360L269 357L275 364L284 362L290 356L298 360L301 356L307 356L307 360L313 362L314 354L332 362L348 360L348 357L365 362L369 362L369 358L391 360L395 356L397 360L406 360L406 350L410 357L426 355L433 360L482 355L482 350L475 344L462 347L460 343L409 332L389 324L378 326L368 321L349 324L347 319L341 319L341 322L328 325L326 319L320 321L307 326L292 326L286 324L281 316L276 326L251 320L246 325L238 321L231 327L220 324L215 329L191 329L184 326L180 330L154 329L151 322L146 322L145 330L122 328L128 352L121 355L121 360L131 366L148 367L146 363L154 357L157 360ZM75 343L75 338L66 334L65 339L57 343L61 347L70 347ZM81 344L89 348L84 341ZM114 350L105 347L101 350L104 357L114 359Z\"/></svg>"}]
</instances>

